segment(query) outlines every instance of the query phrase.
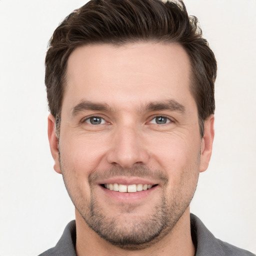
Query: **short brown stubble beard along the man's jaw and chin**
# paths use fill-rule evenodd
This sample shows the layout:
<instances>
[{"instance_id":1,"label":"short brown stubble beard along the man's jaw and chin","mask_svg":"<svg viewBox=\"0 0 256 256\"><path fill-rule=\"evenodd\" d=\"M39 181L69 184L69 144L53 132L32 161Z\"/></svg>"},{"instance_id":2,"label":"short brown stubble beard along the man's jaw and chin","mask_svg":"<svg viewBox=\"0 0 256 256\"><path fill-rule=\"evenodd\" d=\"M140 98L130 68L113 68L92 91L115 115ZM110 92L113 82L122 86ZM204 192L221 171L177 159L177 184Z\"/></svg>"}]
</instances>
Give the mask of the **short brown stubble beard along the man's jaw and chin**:
<instances>
[{"instance_id":1,"label":"short brown stubble beard along the man's jaw and chin","mask_svg":"<svg viewBox=\"0 0 256 256\"><path fill-rule=\"evenodd\" d=\"M139 171L141 169L141 171ZM136 173L145 173L145 168L137 168L135 171L130 171L127 174L124 170L118 171L125 172L125 174L133 175ZM113 171L112 171L113 172ZM63 179L67 191L68 179L65 178L65 171L62 172ZM104 171L104 173L108 173ZM111 173L111 171L109 171ZM152 170L149 173L153 173ZM154 171L154 173L157 173ZM89 182L90 183L90 182ZM167 183L167 182L165 182ZM179 191L174 191L174 197L170 199L165 197L165 187L161 187L162 195L159 201L152 205L151 212L147 213L143 217L132 217L122 218L122 213L119 213L114 217L107 216L106 209L103 209L100 203L97 201L94 195L93 185L90 186L90 200L89 203L83 201L83 193L81 190L76 190L75 193L69 193L69 196L75 205L75 208L80 213L86 224L94 230L100 237L110 242L112 245L126 249L126 250L137 250L149 247L150 245L159 241L166 234L170 233L176 222L182 216L186 208L193 197L193 193L190 197L180 198ZM194 189L195 190L195 189ZM127 204L125 208L122 208L125 215L133 212L134 206ZM118 209L117 209L118 211ZM121 218L121 221L120 221Z\"/></svg>"}]
</instances>

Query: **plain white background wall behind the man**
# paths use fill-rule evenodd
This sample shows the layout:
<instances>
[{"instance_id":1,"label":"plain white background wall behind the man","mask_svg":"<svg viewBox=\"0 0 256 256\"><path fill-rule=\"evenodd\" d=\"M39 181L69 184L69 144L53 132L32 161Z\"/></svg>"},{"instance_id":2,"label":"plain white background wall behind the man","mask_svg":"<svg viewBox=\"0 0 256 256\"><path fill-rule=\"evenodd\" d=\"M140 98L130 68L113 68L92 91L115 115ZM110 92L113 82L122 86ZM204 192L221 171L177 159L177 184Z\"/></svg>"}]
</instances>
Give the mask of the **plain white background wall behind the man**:
<instances>
[{"instance_id":1,"label":"plain white background wall behind the man","mask_svg":"<svg viewBox=\"0 0 256 256\"><path fill-rule=\"evenodd\" d=\"M55 245L73 205L48 148L44 56L83 0L0 0L0 256ZM218 61L215 141L191 211L256 252L256 0L185 0Z\"/></svg>"}]
</instances>

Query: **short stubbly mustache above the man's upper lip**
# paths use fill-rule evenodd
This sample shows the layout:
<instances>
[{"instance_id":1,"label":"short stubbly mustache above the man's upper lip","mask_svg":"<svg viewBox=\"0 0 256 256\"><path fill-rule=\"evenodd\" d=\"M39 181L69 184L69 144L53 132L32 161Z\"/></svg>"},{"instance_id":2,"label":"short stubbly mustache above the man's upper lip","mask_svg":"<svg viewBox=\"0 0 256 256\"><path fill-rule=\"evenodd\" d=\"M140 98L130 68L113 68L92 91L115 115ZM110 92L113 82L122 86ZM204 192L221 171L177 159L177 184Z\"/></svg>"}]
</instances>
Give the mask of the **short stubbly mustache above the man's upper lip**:
<instances>
[{"instance_id":1,"label":"short stubbly mustache above the man's upper lip","mask_svg":"<svg viewBox=\"0 0 256 256\"><path fill-rule=\"evenodd\" d=\"M122 168L113 166L108 169L94 170L88 175L89 184L95 183L97 180L107 179L116 176L126 177L139 177L139 178L152 178L160 180L162 183L168 183L167 175L161 169L152 169L146 166L134 166L132 168Z\"/></svg>"}]
</instances>

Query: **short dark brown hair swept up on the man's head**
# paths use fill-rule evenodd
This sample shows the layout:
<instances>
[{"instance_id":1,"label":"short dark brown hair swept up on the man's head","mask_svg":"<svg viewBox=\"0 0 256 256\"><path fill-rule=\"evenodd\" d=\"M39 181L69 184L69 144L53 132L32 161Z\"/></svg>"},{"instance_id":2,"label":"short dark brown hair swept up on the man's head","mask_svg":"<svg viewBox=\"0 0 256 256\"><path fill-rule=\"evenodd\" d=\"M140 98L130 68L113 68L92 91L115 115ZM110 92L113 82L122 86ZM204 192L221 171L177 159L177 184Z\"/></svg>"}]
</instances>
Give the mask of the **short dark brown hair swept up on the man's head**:
<instances>
[{"instance_id":1,"label":"short dark brown hair swept up on the man's head","mask_svg":"<svg viewBox=\"0 0 256 256\"><path fill-rule=\"evenodd\" d=\"M123 45L139 41L178 43L186 50L192 69L190 91L203 136L204 120L215 109L217 64L197 18L188 16L181 0L91 0L60 23L49 41L45 58L48 106L57 131L70 53L84 44Z\"/></svg>"}]
</instances>

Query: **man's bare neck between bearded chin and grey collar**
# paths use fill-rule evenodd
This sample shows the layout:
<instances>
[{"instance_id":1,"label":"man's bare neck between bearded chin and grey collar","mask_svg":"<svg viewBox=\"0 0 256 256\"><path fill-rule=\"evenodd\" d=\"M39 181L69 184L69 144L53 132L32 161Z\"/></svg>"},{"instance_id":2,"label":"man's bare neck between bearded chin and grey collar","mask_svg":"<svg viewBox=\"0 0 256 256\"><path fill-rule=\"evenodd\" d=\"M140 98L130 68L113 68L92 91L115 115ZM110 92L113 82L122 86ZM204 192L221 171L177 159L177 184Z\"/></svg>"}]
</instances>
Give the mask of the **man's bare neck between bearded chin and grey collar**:
<instances>
[{"instance_id":1,"label":"man's bare neck between bearded chin and grey collar","mask_svg":"<svg viewBox=\"0 0 256 256\"><path fill-rule=\"evenodd\" d=\"M190 232L189 207L184 211L172 230L156 243L139 250L126 250L110 244L90 229L81 215L75 211L76 220L76 254L77 256L93 255L161 255L193 256L194 245Z\"/></svg>"}]
</instances>

